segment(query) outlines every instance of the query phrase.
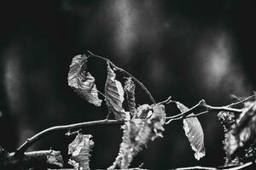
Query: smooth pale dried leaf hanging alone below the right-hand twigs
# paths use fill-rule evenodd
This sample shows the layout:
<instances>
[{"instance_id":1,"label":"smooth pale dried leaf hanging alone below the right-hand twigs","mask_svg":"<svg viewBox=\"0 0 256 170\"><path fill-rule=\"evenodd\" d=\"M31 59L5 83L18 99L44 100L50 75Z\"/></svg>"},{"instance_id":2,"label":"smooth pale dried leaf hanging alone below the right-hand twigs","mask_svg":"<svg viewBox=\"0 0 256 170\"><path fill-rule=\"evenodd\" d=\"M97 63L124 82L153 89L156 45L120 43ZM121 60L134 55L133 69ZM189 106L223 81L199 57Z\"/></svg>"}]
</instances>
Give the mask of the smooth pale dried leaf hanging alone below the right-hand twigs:
<instances>
[{"instance_id":1,"label":"smooth pale dried leaf hanging alone below the right-hand twigs","mask_svg":"<svg viewBox=\"0 0 256 170\"><path fill-rule=\"evenodd\" d=\"M179 102L176 102L176 105L181 112L189 110L185 105ZM189 114L189 116L194 115L194 113ZM204 133L201 123L196 117L186 118L183 119L183 129L189 139L192 150L195 150L195 159L200 160L201 157L206 155Z\"/></svg>"}]
</instances>

